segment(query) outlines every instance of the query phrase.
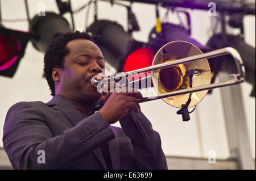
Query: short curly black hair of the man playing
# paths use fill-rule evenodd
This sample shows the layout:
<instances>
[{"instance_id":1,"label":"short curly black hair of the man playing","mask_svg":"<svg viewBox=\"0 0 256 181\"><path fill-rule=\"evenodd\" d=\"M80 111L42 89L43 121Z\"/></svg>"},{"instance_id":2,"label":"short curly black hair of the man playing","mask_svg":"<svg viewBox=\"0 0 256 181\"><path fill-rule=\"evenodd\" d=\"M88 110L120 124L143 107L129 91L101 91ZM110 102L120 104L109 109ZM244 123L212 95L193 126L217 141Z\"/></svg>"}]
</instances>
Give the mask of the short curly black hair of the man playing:
<instances>
[{"instance_id":1,"label":"short curly black hair of the man playing","mask_svg":"<svg viewBox=\"0 0 256 181\"><path fill-rule=\"evenodd\" d=\"M51 43L49 43L46 49L46 54L44 55L44 75L46 76L46 80L48 82L52 96L55 96L55 86L52 79L52 69L64 68L64 57L69 54L69 49L66 47L66 45L69 43L69 41L76 39L90 40L94 44L96 44L92 36L90 36L88 33L76 31L60 33L58 36L55 37L55 39L51 41Z\"/></svg>"}]
</instances>

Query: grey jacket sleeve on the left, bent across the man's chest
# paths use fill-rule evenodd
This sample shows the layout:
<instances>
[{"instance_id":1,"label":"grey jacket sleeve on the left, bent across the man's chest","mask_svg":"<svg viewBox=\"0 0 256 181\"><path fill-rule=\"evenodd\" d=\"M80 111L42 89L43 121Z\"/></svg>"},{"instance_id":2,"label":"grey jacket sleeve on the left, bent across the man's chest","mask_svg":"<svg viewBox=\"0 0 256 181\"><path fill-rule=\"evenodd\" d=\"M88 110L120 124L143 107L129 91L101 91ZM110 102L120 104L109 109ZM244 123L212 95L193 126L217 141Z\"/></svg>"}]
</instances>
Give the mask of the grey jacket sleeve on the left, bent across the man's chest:
<instances>
[{"instance_id":1,"label":"grey jacket sleeve on the left, bent across the man's chest","mask_svg":"<svg viewBox=\"0 0 256 181\"><path fill-rule=\"evenodd\" d=\"M80 155L113 138L112 129L98 112L53 136L43 113L31 102L11 107L3 128L3 148L14 169L65 169L75 164ZM43 161L42 151L46 159L44 164L39 164Z\"/></svg>"}]
</instances>

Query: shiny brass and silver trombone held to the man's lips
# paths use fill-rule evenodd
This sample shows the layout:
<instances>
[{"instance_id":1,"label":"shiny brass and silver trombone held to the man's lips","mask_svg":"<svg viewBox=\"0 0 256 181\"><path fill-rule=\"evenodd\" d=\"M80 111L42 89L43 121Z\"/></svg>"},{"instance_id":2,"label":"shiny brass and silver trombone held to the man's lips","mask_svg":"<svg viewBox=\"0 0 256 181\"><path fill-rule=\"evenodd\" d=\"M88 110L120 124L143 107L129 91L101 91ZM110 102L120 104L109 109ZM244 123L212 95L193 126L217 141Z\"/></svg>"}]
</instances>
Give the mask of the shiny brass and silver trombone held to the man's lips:
<instances>
[{"instance_id":1,"label":"shiny brass and silver trombone held to the man's lips","mask_svg":"<svg viewBox=\"0 0 256 181\"><path fill-rule=\"evenodd\" d=\"M220 57L226 54L230 54L236 62L237 73L230 74L232 79L228 81L210 84L211 73L207 58ZM105 81L109 82L110 79L119 79L120 77L127 78L130 75L147 73L148 71L151 71L152 82L158 95L138 99L138 102L163 99L167 104L177 108L195 106L204 98L208 90L242 83L245 77L242 58L232 47L203 53L187 41L172 41L158 50L152 66L109 75L105 77ZM97 87L101 81L92 79L92 84Z\"/></svg>"}]
</instances>

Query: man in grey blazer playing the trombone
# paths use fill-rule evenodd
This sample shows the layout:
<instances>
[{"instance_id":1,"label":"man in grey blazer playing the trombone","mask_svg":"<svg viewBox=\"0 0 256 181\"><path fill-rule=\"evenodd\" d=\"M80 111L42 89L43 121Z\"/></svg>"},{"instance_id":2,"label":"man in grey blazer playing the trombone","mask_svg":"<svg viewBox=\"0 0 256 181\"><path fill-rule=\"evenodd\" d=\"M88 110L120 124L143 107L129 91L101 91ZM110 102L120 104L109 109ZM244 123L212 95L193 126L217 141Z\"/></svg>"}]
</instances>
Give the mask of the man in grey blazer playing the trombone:
<instances>
[{"instance_id":1,"label":"man in grey blazer playing the trombone","mask_svg":"<svg viewBox=\"0 0 256 181\"><path fill-rule=\"evenodd\" d=\"M102 96L90 81L104 71L87 33L52 40L44 56L52 100L19 102L6 115L3 147L14 169L167 169L159 133L137 101L141 93ZM117 121L122 128L111 125Z\"/></svg>"}]
</instances>

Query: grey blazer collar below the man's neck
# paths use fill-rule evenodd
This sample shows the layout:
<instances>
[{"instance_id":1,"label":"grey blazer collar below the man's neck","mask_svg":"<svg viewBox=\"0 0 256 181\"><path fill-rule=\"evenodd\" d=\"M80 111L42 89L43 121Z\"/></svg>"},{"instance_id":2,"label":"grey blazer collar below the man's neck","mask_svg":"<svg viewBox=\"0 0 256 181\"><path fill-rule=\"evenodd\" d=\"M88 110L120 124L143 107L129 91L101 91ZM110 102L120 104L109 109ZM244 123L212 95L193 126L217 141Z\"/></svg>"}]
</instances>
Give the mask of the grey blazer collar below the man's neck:
<instances>
[{"instance_id":1,"label":"grey blazer collar below the man's neck","mask_svg":"<svg viewBox=\"0 0 256 181\"><path fill-rule=\"evenodd\" d=\"M63 96L55 95L53 96L52 100L46 104L56 110L63 112L74 126L79 123L79 121L84 119L82 113Z\"/></svg>"}]
</instances>

